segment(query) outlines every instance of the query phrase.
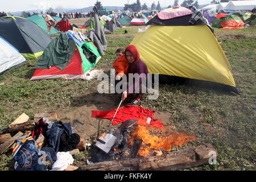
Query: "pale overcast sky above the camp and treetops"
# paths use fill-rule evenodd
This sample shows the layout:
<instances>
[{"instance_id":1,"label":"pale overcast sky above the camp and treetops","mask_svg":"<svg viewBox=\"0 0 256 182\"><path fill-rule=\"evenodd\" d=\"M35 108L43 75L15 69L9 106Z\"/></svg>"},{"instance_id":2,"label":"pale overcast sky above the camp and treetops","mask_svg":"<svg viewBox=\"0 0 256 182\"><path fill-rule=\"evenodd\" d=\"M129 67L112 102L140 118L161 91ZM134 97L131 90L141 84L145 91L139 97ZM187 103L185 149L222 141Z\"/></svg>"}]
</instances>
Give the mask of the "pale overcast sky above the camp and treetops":
<instances>
[{"instance_id":1,"label":"pale overcast sky above the camp and treetops","mask_svg":"<svg viewBox=\"0 0 256 182\"><path fill-rule=\"evenodd\" d=\"M15 12L15 11L26 11L26 10L38 10L38 9L49 9L52 7L61 7L63 9L80 9L84 7L94 6L97 0L0 0L0 11ZM179 0L181 4L184 0ZM198 0L199 5L205 5L210 3L211 0ZM100 0L102 6L124 6L125 4L135 3L136 0ZM148 7L153 2L157 5L158 0L140 0L141 4L146 3ZM174 4L174 0L159 0L162 7L166 7Z\"/></svg>"}]
</instances>

